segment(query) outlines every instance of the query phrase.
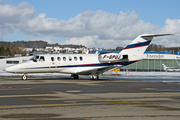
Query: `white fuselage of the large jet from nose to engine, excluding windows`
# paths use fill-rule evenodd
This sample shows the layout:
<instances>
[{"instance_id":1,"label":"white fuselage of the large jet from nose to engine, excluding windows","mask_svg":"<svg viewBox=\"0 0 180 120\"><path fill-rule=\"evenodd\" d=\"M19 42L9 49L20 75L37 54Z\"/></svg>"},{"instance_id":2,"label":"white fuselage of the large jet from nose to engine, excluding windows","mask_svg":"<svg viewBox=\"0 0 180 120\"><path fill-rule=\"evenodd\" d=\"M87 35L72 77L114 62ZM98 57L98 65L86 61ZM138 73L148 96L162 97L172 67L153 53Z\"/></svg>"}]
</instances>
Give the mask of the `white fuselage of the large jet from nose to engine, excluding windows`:
<instances>
[{"instance_id":1,"label":"white fuselage of the large jet from nose to engine, excluding windows","mask_svg":"<svg viewBox=\"0 0 180 120\"><path fill-rule=\"evenodd\" d=\"M60 72L76 74L83 71L107 67L98 60L98 54L47 54L45 60L28 60L27 62L7 68L8 72L15 73L49 73ZM40 58L39 57L39 58ZM51 58L54 58L54 61ZM60 57L60 60L58 59ZM66 58L66 60L64 60ZM75 60L77 58L77 60Z\"/></svg>"}]
</instances>

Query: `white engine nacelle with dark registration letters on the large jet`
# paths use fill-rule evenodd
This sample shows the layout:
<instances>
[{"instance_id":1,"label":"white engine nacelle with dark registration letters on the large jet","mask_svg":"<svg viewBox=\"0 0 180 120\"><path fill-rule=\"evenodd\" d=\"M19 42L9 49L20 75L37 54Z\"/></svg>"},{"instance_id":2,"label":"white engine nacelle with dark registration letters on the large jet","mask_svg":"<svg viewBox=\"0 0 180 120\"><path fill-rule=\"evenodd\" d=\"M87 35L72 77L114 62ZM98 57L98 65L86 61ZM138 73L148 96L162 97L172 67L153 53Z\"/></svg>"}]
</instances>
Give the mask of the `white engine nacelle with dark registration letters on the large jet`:
<instances>
[{"instance_id":1,"label":"white engine nacelle with dark registration letters on the large jet","mask_svg":"<svg viewBox=\"0 0 180 120\"><path fill-rule=\"evenodd\" d=\"M117 53L99 54L100 62L120 62L128 60L128 55L121 55Z\"/></svg>"}]
</instances>

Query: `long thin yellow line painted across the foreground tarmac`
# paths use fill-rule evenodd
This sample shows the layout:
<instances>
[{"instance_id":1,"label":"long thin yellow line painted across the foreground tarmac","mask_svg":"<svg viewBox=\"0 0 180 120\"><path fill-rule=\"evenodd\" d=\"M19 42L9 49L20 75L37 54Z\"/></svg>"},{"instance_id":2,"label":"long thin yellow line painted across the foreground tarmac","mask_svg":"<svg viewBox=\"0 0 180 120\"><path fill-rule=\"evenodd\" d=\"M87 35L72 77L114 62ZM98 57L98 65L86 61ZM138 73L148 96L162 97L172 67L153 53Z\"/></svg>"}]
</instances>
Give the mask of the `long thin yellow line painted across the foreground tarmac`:
<instances>
[{"instance_id":1,"label":"long thin yellow line painted across the foreground tarmac","mask_svg":"<svg viewBox=\"0 0 180 120\"><path fill-rule=\"evenodd\" d=\"M0 108L12 107L43 107L43 106L71 106L71 105L103 105L103 104L146 104L157 103L158 101L134 101L134 102L92 102L92 103L59 103L59 104L32 104L32 105L4 105Z\"/></svg>"}]
</instances>

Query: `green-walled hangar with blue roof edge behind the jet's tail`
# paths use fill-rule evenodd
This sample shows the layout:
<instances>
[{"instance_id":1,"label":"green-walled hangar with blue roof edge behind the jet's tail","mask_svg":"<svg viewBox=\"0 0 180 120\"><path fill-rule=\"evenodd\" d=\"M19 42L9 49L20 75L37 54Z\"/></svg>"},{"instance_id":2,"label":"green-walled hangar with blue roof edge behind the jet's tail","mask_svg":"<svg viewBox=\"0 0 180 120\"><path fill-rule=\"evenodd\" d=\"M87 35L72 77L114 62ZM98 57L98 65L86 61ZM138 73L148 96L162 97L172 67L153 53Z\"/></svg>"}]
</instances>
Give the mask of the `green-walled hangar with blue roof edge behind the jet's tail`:
<instances>
[{"instance_id":1,"label":"green-walled hangar with blue roof edge behind the jet's tail","mask_svg":"<svg viewBox=\"0 0 180 120\"><path fill-rule=\"evenodd\" d=\"M92 53L102 53L102 52L115 52L119 53L121 51L92 51ZM157 51L147 51L143 54L143 59L132 63L130 65L120 68L120 71L164 71L162 64L168 67L179 68L177 62L180 63L180 52L177 51L175 55L171 52L157 52ZM116 72L119 69L115 70Z\"/></svg>"}]
</instances>

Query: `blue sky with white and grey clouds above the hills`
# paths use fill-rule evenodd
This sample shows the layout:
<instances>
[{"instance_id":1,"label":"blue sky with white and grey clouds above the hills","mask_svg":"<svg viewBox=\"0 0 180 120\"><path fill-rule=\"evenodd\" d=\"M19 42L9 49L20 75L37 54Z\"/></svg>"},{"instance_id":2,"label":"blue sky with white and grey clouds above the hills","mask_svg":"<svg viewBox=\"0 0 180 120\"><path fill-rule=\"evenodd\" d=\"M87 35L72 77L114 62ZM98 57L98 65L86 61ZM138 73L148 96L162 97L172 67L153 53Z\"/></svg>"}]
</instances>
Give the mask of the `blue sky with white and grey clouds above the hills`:
<instances>
[{"instance_id":1,"label":"blue sky with white and grey clouds above the hills","mask_svg":"<svg viewBox=\"0 0 180 120\"><path fill-rule=\"evenodd\" d=\"M0 0L0 41L44 40L89 48L125 47L144 33L180 46L179 0Z\"/></svg>"}]
</instances>

